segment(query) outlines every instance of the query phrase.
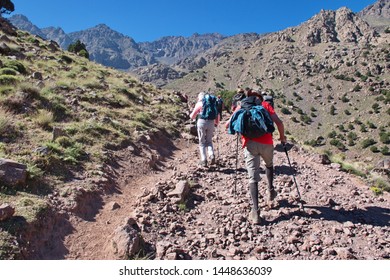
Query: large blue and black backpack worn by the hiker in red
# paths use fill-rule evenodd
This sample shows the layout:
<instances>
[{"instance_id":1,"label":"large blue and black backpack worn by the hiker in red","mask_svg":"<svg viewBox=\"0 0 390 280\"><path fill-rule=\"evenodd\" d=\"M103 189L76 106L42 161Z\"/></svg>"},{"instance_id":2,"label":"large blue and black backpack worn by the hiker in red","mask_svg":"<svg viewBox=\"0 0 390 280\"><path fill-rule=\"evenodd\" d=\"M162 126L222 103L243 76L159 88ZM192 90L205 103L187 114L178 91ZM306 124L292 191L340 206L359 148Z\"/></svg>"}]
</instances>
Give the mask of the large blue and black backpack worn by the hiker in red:
<instances>
[{"instance_id":1,"label":"large blue and black backpack worn by the hiker in red","mask_svg":"<svg viewBox=\"0 0 390 280\"><path fill-rule=\"evenodd\" d=\"M241 101L241 109L236 111L229 125L229 133L239 133L248 138L257 138L273 133L275 126L269 112L251 96Z\"/></svg>"}]
</instances>

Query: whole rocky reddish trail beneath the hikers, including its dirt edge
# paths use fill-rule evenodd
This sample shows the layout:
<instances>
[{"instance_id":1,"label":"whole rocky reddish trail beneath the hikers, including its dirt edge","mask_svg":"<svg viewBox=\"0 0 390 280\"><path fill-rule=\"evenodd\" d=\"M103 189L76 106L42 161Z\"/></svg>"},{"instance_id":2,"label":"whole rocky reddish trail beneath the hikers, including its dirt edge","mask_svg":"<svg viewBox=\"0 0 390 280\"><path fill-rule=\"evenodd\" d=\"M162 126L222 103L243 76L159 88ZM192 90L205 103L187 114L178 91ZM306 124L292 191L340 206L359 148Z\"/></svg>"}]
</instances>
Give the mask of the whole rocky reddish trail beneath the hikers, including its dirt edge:
<instances>
[{"instance_id":1,"label":"whole rocky reddish trail beneath the hikers, including its dirt edge","mask_svg":"<svg viewBox=\"0 0 390 280\"><path fill-rule=\"evenodd\" d=\"M261 197L263 222L252 225L241 147L236 172L235 136L217 133L219 164L208 169L197 166L194 139L181 139L175 146L159 137L146 140L152 145L130 146L114 155L111 172L117 188L95 204L86 202L93 209L88 215L71 215L62 242L44 258L120 259L140 244L144 249L136 259L390 258L390 194L374 195L337 164L293 146L288 154L295 173L277 146L278 204L268 207ZM160 156L150 147L162 147ZM293 174L306 202L304 211Z\"/></svg>"}]
</instances>

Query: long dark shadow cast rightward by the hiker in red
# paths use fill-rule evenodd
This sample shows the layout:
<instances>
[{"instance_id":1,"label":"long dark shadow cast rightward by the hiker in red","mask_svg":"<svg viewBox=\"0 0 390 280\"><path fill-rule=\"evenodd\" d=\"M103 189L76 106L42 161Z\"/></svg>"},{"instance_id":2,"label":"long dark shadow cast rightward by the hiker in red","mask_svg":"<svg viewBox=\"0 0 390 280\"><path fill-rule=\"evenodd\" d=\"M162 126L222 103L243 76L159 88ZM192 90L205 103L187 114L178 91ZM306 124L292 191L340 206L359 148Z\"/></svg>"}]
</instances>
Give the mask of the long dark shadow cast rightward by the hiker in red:
<instances>
[{"instance_id":1,"label":"long dark shadow cast rightward by the hiker in red","mask_svg":"<svg viewBox=\"0 0 390 280\"><path fill-rule=\"evenodd\" d=\"M307 217L312 219L324 219L327 221L337 221L339 223L352 222L353 224L366 224L373 226L390 226L390 209L377 206L368 206L365 209L333 209L331 206L309 206L304 205L305 211L299 209L299 203L290 204L286 200L279 202L280 208L291 208L286 214L269 221L270 224L290 220L293 216ZM296 210L295 210L296 208ZM310 209L316 211L310 211Z\"/></svg>"}]
</instances>

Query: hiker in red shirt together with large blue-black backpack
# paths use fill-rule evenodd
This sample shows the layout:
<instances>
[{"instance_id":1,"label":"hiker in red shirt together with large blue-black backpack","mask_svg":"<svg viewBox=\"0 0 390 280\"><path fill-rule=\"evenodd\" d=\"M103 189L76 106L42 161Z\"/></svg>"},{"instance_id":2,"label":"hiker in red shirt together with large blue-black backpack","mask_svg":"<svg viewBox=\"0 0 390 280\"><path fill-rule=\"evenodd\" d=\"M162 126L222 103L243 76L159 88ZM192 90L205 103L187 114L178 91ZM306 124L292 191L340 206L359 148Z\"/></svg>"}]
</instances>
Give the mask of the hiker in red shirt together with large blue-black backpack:
<instances>
[{"instance_id":1,"label":"hiker in red shirt together with large blue-black backpack","mask_svg":"<svg viewBox=\"0 0 390 280\"><path fill-rule=\"evenodd\" d=\"M237 106L235 112L226 123L229 134L239 133L242 138L242 146L245 149L245 164L249 177L249 192L252 200L252 209L249 215L253 224L260 223L259 191L260 182L260 157L264 160L267 176L267 200L272 202L276 198L273 185L273 138L274 123L279 131L279 140L286 142L284 125L275 113L274 108L263 100L262 95L250 89L245 98Z\"/></svg>"}]
</instances>

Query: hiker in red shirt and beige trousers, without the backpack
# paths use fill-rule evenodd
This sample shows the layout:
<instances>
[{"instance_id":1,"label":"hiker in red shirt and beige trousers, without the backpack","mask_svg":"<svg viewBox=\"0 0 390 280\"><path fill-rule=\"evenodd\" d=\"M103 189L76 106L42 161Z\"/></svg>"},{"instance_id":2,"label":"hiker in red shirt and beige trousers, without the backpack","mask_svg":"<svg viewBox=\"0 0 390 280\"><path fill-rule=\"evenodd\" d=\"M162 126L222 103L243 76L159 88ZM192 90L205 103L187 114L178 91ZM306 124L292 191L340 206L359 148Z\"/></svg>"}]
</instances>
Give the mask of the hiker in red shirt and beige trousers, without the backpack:
<instances>
[{"instance_id":1,"label":"hiker in red shirt and beige trousers, without the backpack","mask_svg":"<svg viewBox=\"0 0 390 280\"><path fill-rule=\"evenodd\" d=\"M251 89L246 89L245 98L242 99L240 104L243 102L255 102L257 105L263 106L270 114L271 119L276 124L279 131L279 140L282 143L286 142L286 136L284 134L284 125L280 120L278 115L275 113L274 108L266 101L263 100L263 96ZM238 105L235 108L236 112L241 108L241 105ZM225 127L228 128L230 123L229 121L225 124ZM273 167L273 153L274 153L274 141L271 133L266 133L257 138L248 138L241 136L242 147L245 149L245 164L248 170L249 177L249 192L252 199L252 210L249 218L253 224L260 223L260 210L259 210L259 191L258 191L258 182L260 182L260 157L264 160L265 163L265 172L267 176L268 191L267 197L268 202L272 202L277 193L273 185L274 177L274 167Z\"/></svg>"}]
</instances>

